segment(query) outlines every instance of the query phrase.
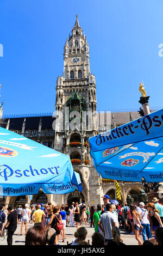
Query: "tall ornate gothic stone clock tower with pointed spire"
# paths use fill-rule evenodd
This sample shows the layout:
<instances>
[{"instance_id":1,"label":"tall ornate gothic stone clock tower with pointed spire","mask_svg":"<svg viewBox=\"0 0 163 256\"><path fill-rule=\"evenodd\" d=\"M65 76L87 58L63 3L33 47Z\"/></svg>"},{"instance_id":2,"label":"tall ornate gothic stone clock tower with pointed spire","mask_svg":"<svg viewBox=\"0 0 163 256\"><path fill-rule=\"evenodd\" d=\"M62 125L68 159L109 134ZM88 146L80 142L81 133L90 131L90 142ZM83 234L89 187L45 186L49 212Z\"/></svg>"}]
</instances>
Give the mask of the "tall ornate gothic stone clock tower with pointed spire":
<instances>
[{"instance_id":1,"label":"tall ornate gothic stone clock tower with pointed spire","mask_svg":"<svg viewBox=\"0 0 163 256\"><path fill-rule=\"evenodd\" d=\"M64 46L63 74L57 78L54 149L70 156L74 170L80 174L83 191L78 197L73 193L63 195L64 203L78 200L97 205L101 201L101 179L90 157L88 141L98 133L96 106L96 80L90 72L89 44L77 15Z\"/></svg>"}]
</instances>

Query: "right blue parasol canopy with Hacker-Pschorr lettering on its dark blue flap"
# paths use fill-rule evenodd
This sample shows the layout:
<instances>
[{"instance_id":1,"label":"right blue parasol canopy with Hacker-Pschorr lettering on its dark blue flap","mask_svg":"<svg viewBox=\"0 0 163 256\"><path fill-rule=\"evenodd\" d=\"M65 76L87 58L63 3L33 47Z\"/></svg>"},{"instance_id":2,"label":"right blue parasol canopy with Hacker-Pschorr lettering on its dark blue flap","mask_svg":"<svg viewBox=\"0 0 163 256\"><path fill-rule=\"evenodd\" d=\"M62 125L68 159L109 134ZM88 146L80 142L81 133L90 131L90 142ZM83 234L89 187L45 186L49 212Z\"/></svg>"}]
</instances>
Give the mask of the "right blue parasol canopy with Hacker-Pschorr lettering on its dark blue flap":
<instances>
[{"instance_id":1,"label":"right blue parasol canopy with Hacker-Pschorr lettering on its dark blue flap","mask_svg":"<svg viewBox=\"0 0 163 256\"><path fill-rule=\"evenodd\" d=\"M163 181L163 108L89 139L104 179Z\"/></svg>"}]
</instances>

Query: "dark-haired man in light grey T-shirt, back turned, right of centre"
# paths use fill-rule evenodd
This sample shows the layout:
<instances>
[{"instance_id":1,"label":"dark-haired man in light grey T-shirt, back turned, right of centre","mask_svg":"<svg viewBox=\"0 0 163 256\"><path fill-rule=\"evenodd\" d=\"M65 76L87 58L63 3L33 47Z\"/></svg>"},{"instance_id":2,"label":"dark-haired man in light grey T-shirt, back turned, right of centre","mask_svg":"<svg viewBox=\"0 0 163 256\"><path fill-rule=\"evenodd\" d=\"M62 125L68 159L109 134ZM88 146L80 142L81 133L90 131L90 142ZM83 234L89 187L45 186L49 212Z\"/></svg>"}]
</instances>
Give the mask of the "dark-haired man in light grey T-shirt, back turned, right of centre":
<instances>
[{"instance_id":1,"label":"dark-haired man in light grey T-shirt, back turned, right of centre","mask_svg":"<svg viewBox=\"0 0 163 256\"><path fill-rule=\"evenodd\" d=\"M112 237L112 227L116 227L116 220L112 214L113 208L111 204L106 204L106 211L101 215L98 227L102 230L105 238L105 243L111 241Z\"/></svg>"}]
</instances>

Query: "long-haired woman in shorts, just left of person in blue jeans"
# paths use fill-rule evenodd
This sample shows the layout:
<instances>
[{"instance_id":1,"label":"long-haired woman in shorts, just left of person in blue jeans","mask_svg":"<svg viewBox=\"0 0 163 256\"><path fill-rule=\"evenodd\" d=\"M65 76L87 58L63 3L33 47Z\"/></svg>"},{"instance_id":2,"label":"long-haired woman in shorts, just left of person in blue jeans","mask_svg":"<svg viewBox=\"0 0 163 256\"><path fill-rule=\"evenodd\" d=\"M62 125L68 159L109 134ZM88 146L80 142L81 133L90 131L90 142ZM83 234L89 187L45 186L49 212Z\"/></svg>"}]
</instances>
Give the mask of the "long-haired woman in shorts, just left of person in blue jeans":
<instances>
[{"instance_id":1,"label":"long-haired woman in shorts, just left of person in blue jeans","mask_svg":"<svg viewBox=\"0 0 163 256\"><path fill-rule=\"evenodd\" d=\"M143 227L140 223L139 214L133 204L130 204L130 215L131 217L133 217L134 221L135 239L137 240L139 245L142 245L142 241L140 239L140 229L143 229Z\"/></svg>"}]
</instances>

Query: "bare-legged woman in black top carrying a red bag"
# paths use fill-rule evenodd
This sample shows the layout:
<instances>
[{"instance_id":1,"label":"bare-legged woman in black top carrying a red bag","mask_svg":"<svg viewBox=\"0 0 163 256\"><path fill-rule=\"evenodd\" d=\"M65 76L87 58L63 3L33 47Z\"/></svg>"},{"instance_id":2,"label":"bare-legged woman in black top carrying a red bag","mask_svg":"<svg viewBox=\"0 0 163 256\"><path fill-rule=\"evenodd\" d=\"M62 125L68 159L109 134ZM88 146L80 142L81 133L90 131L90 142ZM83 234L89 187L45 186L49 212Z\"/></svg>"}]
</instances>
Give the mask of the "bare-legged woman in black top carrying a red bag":
<instances>
[{"instance_id":1,"label":"bare-legged woman in black top carrying a red bag","mask_svg":"<svg viewBox=\"0 0 163 256\"><path fill-rule=\"evenodd\" d=\"M55 206L53 209L53 215L51 217L51 220L49 221L49 223L47 224L47 229L49 228L49 226L51 225L51 228L54 228L56 231L56 236L55 236L55 242L54 245L58 245L58 241L59 241L59 235L60 235L60 230L56 229L56 224L58 222L58 220L62 220L61 215L59 214L60 212L60 206Z\"/></svg>"}]
</instances>

